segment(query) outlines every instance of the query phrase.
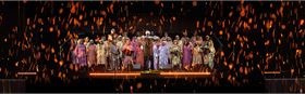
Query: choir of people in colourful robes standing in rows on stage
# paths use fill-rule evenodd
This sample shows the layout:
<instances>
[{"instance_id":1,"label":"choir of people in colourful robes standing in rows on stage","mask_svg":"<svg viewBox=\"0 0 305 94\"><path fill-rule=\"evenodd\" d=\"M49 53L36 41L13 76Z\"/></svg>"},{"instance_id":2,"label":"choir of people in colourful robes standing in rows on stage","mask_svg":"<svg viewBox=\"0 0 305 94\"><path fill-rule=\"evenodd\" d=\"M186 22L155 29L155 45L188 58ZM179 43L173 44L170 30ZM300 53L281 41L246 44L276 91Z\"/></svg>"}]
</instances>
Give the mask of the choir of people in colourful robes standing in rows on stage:
<instances>
[{"instance_id":1,"label":"choir of people in colourful robes standing in rows on stage","mask_svg":"<svg viewBox=\"0 0 305 94\"><path fill-rule=\"evenodd\" d=\"M91 69L102 66L105 70L208 70L213 67L216 53L209 36L175 36L172 40L167 33L159 38L148 30L130 39L111 29L107 37L75 39L71 48L75 65Z\"/></svg>"}]
</instances>

